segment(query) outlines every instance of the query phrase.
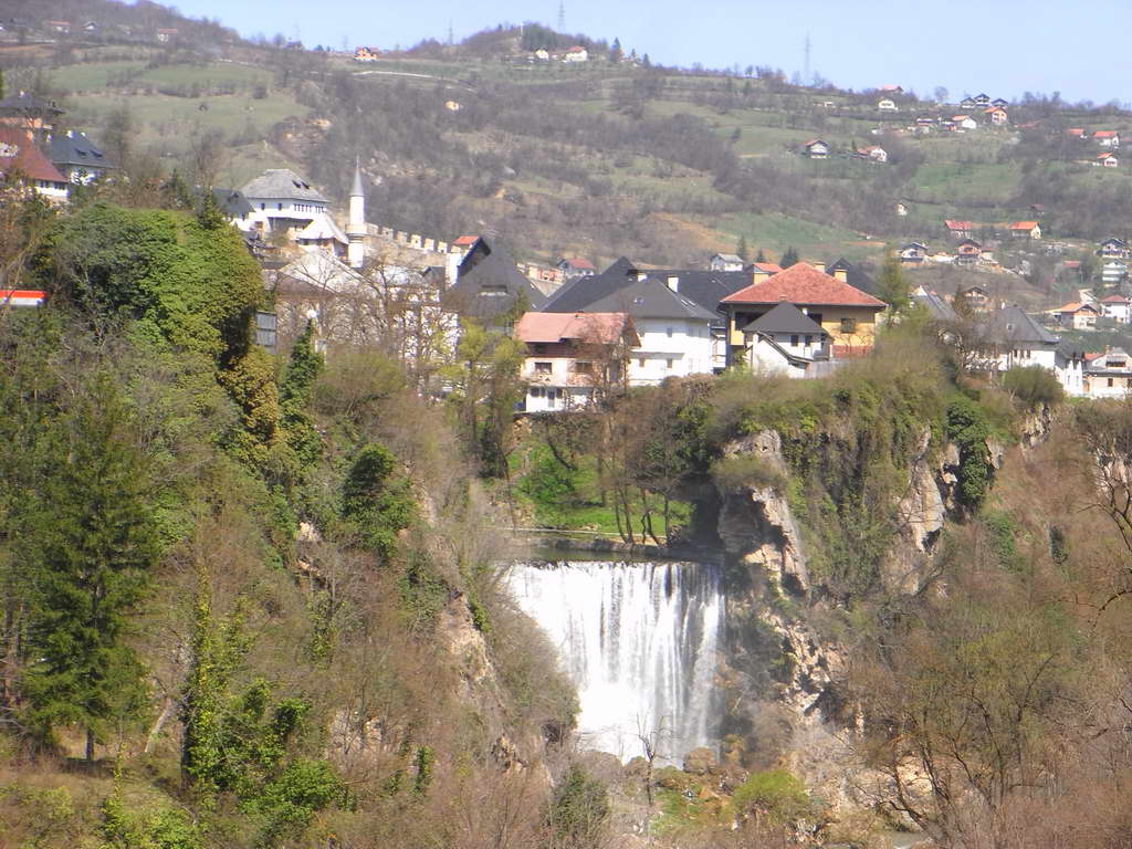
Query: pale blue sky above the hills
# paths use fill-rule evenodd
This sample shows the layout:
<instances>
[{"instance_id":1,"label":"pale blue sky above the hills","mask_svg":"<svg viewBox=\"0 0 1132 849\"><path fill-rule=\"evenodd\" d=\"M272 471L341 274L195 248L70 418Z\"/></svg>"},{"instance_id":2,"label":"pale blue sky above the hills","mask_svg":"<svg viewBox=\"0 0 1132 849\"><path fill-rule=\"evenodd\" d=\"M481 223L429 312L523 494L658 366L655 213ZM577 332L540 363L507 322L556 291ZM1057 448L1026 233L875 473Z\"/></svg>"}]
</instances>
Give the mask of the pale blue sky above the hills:
<instances>
[{"instance_id":1,"label":"pale blue sky above the hills","mask_svg":"<svg viewBox=\"0 0 1132 849\"><path fill-rule=\"evenodd\" d=\"M307 46L409 46L445 40L449 22L458 41L499 23L555 26L558 18L558 0L169 1L243 35L298 33ZM568 32L619 37L626 51L664 65L769 65L790 76L804 68L808 34L812 70L844 87L1132 100L1132 51L1114 32L1127 23L1129 0L566 0L565 7Z\"/></svg>"}]
</instances>

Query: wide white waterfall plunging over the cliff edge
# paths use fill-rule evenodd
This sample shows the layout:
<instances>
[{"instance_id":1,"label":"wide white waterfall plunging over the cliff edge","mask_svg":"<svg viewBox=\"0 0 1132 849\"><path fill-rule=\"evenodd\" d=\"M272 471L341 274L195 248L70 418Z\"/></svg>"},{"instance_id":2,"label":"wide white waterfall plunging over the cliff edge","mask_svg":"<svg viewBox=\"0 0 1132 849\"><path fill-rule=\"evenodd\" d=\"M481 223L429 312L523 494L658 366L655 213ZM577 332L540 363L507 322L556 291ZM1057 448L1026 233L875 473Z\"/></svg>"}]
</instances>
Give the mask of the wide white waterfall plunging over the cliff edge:
<instances>
[{"instance_id":1,"label":"wide white waterfall plunging over the cliff edge","mask_svg":"<svg viewBox=\"0 0 1132 849\"><path fill-rule=\"evenodd\" d=\"M658 763L714 746L719 565L516 564L511 586L577 686L583 746L626 760L650 735Z\"/></svg>"}]
</instances>

